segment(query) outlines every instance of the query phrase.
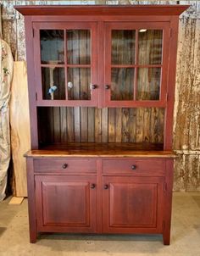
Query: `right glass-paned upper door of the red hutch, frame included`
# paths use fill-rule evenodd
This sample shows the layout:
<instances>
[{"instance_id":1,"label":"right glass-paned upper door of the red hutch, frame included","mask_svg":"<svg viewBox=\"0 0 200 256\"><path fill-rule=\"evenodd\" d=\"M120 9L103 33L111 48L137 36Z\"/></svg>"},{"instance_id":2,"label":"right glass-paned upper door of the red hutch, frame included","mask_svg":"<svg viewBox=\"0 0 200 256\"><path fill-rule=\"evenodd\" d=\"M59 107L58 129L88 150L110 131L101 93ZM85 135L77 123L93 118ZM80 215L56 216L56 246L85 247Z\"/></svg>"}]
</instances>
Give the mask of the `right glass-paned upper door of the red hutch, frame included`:
<instances>
[{"instance_id":1,"label":"right glass-paned upper door of the red hutch, frame included","mask_svg":"<svg viewBox=\"0 0 200 256\"><path fill-rule=\"evenodd\" d=\"M106 105L164 104L168 33L169 27L162 23L106 24Z\"/></svg>"}]
</instances>

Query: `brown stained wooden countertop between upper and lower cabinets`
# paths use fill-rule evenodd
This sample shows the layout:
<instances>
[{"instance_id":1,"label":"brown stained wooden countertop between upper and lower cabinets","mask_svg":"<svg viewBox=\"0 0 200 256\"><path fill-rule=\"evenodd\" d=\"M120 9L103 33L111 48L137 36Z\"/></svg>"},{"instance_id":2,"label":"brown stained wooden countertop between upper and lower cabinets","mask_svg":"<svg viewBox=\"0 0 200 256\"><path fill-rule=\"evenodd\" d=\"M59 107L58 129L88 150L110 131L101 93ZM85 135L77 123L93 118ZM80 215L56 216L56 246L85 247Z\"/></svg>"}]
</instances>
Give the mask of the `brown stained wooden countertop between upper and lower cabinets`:
<instances>
[{"instance_id":1,"label":"brown stained wooden countertop between upper and lower cabinets","mask_svg":"<svg viewBox=\"0 0 200 256\"><path fill-rule=\"evenodd\" d=\"M163 144L149 143L69 143L53 144L25 153L25 157L151 157L173 158Z\"/></svg>"}]
</instances>

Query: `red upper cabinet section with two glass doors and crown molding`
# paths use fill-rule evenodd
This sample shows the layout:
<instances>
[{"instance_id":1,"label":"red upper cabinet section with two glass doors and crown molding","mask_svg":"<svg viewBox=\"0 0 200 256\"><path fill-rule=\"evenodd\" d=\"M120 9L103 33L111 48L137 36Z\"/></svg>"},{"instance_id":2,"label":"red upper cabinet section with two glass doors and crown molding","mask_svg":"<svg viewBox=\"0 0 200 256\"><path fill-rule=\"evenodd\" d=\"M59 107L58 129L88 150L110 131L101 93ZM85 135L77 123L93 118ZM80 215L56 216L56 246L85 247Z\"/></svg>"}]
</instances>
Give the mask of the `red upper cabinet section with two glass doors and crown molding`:
<instances>
[{"instance_id":1,"label":"red upper cabinet section with two glass doors and crown molding","mask_svg":"<svg viewBox=\"0 0 200 256\"><path fill-rule=\"evenodd\" d=\"M37 106L167 106L178 15L188 6L16 8Z\"/></svg>"}]
</instances>

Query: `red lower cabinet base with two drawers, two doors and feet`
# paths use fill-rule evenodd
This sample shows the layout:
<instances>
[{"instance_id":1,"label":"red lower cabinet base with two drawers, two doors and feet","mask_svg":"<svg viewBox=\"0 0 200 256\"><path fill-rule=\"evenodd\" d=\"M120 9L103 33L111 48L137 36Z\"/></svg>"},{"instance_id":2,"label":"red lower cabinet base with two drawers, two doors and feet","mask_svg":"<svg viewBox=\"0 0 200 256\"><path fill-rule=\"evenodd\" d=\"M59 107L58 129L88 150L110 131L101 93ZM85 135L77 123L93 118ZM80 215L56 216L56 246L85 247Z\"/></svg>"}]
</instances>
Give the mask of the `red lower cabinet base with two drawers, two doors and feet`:
<instances>
[{"instance_id":1,"label":"red lower cabinet base with two drawers, two doors and feet","mask_svg":"<svg viewBox=\"0 0 200 256\"><path fill-rule=\"evenodd\" d=\"M53 172L53 166L42 170L48 159L28 159L31 242L45 231L154 233L163 234L164 244L169 244L173 159L158 159L158 165L148 158L116 160L84 159L83 165L92 163L88 171L70 159L65 162L71 169L62 172L58 168L64 160L53 159L58 165Z\"/></svg>"}]
</instances>

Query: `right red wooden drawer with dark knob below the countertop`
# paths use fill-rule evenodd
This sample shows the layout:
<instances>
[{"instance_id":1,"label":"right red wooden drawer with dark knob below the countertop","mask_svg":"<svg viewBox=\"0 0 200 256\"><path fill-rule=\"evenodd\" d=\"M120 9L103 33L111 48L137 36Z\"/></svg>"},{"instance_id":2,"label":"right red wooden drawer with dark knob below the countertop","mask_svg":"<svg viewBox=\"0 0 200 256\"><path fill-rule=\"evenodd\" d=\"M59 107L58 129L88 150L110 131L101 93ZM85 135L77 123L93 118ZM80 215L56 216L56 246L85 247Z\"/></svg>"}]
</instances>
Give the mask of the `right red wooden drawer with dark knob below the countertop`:
<instances>
[{"instance_id":1,"label":"right red wooden drawer with dark knob below the countertop","mask_svg":"<svg viewBox=\"0 0 200 256\"><path fill-rule=\"evenodd\" d=\"M165 162L162 159L106 159L103 160L103 174L120 175L164 175Z\"/></svg>"}]
</instances>

